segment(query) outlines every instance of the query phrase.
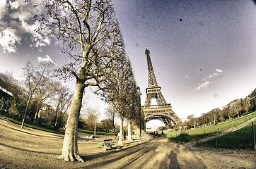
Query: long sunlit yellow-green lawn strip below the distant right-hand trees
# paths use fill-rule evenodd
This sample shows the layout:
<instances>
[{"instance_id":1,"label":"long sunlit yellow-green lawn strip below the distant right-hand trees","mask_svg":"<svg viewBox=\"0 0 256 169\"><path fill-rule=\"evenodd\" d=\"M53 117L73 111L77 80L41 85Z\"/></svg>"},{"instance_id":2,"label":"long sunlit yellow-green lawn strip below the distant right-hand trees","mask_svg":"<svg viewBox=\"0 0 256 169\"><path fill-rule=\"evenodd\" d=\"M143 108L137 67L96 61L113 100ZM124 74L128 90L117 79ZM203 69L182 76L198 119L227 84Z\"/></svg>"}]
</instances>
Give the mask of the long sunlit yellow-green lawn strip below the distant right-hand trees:
<instances>
[{"instance_id":1,"label":"long sunlit yellow-green lawn strip below the distant right-hand trees","mask_svg":"<svg viewBox=\"0 0 256 169\"><path fill-rule=\"evenodd\" d=\"M180 131L175 132L165 132L165 137L168 139L172 139L176 142L191 142L196 139L202 139L204 137L208 137L209 135L215 134L215 132L223 132L232 127L236 127L242 123L247 122L248 120L255 118L256 112L250 113L248 115L243 115L240 118L235 118L233 120L228 120L223 123L218 123L217 125L210 125L206 127L199 127L196 129L185 130L187 136L180 136Z\"/></svg>"}]
</instances>

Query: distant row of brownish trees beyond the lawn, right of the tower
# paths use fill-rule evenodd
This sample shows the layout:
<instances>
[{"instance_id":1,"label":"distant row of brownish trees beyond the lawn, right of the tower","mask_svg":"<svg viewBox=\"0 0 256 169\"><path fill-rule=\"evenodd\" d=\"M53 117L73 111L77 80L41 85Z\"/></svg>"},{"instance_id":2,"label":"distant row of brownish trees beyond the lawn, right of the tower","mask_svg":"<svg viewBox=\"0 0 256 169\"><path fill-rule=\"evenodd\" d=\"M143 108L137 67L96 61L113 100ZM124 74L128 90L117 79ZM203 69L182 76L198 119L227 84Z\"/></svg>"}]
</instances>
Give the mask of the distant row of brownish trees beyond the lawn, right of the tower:
<instances>
[{"instance_id":1,"label":"distant row of brownish trees beyond the lawn, right of the tower","mask_svg":"<svg viewBox=\"0 0 256 169\"><path fill-rule=\"evenodd\" d=\"M216 125L216 123L223 122L225 120L231 120L232 118L239 118L241 115L248 114L256 110L256 89L249 95L250 99L235 99L231 103L223 106L222 109L214 108L208 113L202 113L199 118L195 118L194 115L187 116L185 125L188 128L195 128L205 125Z\"/></svg>"}]
</instances>

